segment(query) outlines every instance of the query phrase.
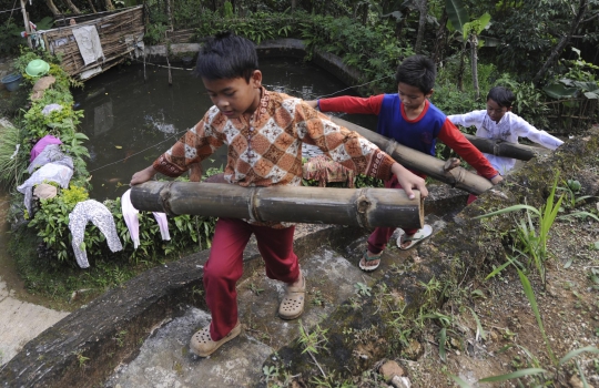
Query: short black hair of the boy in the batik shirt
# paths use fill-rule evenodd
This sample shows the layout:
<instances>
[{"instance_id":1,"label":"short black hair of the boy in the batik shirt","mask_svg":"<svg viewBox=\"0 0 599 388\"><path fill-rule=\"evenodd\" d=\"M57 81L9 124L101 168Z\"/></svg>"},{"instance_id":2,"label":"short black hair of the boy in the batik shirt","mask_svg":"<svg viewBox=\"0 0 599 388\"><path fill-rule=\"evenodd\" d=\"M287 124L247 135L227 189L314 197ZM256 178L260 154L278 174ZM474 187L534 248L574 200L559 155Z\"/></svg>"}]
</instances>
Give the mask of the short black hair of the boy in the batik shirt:
<instances>
[{"instance_id":1,"label":"short black hair of the boy in the batik shirt","mask_svg":"<svg viewBox=\"0 0 599 388\"><path fill-rule=\"evenodd\" d=\"M207 80L244 78L250 82L257 68L254 43L232 32L222 32L202 45L193 74Z\"/></svg>"}]
</instances>

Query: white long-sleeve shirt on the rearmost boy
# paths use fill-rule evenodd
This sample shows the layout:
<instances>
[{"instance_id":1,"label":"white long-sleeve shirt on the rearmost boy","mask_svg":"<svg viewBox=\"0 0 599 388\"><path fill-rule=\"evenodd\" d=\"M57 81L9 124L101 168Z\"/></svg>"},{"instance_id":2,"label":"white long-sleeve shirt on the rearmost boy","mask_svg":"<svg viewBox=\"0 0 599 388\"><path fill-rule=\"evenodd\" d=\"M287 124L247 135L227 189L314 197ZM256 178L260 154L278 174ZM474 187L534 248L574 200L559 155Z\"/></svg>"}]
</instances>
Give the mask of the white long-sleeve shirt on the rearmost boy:
<instances>
[{"instance_id":1,"label":"white long-sleeve shirt on the rearmost boy","mask_svg":"<svg viewBox=\"0 0 599 388\"><path fill-rule=\"evenodd\" d=\"M522 118L515 113L506 112L498 123L493 121L486 110L473 111L465 114L453 114L447 116L455 125L476 126L476 135L478 137L502 140L505 142L518 144L518 137L527 137L528 140L540 144L549 150L556 150L564 142L555 136L551 136L545 131L539 131L530 125ZM514 169L516 160L505 156L496 156L484 153L485 157L501 175Z\"/></svg>"}]
</instances>

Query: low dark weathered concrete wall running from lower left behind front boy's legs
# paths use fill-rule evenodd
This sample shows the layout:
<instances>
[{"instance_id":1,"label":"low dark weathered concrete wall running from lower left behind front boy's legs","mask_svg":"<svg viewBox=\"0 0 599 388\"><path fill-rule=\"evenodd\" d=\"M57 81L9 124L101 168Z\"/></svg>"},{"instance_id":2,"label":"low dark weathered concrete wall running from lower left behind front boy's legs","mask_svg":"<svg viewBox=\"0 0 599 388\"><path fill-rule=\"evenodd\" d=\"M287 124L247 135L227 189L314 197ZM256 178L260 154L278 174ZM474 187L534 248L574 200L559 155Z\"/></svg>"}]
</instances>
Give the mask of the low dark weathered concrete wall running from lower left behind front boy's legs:
<instances>
[{"instance_id":1,"label":"low dark weathered concrete wall running from lower left behind front boy's legs","mask_svg":"<svg viewBox=\"0 0 599 388\"><path fill-rule=\"evenodd\" d=\"M323 244L347 246L364 235L359 228L325 226L297 238L302 257ZM210 251L148 269L68 315L29 341L0 367L2 387L91 387L104 381L121 363L131 361L140 345L189 306L206 309L203 265ZM244 273L262 267L255 243L244 251Z\"/></svg>"}]
</instances>

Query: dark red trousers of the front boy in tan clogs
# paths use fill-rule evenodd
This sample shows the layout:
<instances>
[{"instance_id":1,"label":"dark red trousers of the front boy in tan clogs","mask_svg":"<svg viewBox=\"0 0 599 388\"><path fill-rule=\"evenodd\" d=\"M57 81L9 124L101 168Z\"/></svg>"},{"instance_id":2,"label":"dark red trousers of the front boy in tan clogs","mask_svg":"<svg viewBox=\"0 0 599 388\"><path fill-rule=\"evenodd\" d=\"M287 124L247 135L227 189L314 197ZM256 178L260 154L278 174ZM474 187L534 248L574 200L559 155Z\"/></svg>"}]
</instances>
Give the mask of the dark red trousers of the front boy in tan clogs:
<instances>
[{"instance_id":1,"label":"dark red trousers of the front boy in tan clogs","mask_svg":"<svg viewBox=\"0 0 599 388\"><path fill-rule=\"evenodd\" d=\"M220 218L216 222L210 257L204 266L204 289L212 314L212 340L220 340L237 324L236 284L243 274L243 249L252 233L256 235L266 276L293 283L300 277L297 256L293 252L294 232L295 226L274 229L234 218Z\"/></svg>"}]
</instances>

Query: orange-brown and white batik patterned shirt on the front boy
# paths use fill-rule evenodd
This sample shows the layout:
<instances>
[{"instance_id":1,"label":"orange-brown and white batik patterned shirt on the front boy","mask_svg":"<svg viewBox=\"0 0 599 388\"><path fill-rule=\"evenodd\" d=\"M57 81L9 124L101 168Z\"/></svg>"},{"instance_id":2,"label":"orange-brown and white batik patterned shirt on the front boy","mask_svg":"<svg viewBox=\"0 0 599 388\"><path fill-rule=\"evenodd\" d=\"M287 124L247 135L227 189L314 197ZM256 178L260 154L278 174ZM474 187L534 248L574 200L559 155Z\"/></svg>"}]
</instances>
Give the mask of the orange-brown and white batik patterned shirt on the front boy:
<instances>
[{"instance_id":1,"label":"orange-brown and white batik patterned shirt on the front boy","mask_svg":"<svg viewBox=\"0 0 599 388\"><path fill-rule=\"evenodd\" d=\"M224 178L241 186L298 186L302 144L318 146L343 166L389 180L395 161L375 144L312 109L302 100L262 89L260 106L247 121L229 119L216 106L153 163L167 176L179 176L227 145ZM272 227L285 224L258 223Z\"/></svg>"}]
</instances>

